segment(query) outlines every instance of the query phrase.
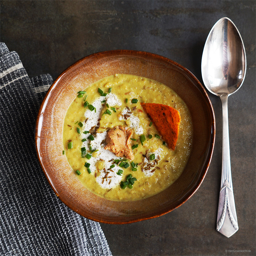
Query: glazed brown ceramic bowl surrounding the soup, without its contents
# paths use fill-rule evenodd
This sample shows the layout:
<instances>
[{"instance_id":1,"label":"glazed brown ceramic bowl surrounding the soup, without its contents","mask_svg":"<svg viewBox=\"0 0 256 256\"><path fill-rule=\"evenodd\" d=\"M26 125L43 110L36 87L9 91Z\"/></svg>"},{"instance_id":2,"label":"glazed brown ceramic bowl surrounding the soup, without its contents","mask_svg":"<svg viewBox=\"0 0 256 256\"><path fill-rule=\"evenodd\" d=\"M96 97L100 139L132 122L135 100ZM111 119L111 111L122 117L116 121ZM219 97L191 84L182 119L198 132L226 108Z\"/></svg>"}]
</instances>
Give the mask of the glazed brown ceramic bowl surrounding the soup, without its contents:
<instances>
[{"instance_id":1,"label":"glazed brown ceramic bowl surrounding the soup, without its contents","mask_svg":"<svg viewBox=\"0 0 256 256\"><path fill-rule=\"evenodd\" d=\"M182 175L166 190L139 201L117 202L96 196L79 182L62 155L63 120L77 91L118 73L148 77L171 87L185 101L193 120L193 148ZM141 51L95 53L68 67L48 90L36 122L38 158L56 195L80 215L110 224L158 217L186 202L206 175L214 141L213 108L200 82L174 61Z\"/></svg>"}]
</instances>

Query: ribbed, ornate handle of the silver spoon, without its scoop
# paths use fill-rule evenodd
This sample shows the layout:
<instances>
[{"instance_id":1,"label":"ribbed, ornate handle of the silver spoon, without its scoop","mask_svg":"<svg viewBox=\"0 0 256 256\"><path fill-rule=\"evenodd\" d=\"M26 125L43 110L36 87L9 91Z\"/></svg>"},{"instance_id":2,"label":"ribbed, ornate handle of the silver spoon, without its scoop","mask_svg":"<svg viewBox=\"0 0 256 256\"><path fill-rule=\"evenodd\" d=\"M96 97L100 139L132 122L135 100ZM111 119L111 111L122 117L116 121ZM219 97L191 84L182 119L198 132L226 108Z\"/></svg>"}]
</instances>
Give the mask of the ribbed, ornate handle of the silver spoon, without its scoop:
<instances>
[{"instance_id":1,"label":"ribbed, ornate handle of the silver spoon, without its scoop","mask_svg":"<svg viewBox=\"0 0 256 256\"><path fill-rule=\"evenodd\" d=\"M228 132L228 95L221 95L220 99L222 103L223 120L222 170L216 229L224 236L230 237L238 230L238 224L231 178Z\"/></svg>"}]
</instances>

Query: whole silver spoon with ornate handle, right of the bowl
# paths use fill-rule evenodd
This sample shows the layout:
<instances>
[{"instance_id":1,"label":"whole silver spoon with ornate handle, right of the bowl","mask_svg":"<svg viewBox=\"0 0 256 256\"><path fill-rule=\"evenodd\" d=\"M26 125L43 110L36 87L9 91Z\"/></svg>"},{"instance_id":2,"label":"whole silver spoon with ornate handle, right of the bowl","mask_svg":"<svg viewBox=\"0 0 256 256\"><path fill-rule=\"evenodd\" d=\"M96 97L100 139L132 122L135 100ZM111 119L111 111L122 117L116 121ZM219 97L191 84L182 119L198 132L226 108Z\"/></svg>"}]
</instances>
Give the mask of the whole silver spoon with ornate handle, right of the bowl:
<instances>
[{"instance_id":1,"label":"whole silver spoon with ornate handle, right of the bowl","mask_svg":"<svg viewBox=\"0 0 256 256\"><path fill-rule=\"evenodd\" d=\"M228 97L243 84L246 73L244 43L235 24L221 18L211 29L202 56L205 87L222 103L222 172L216 229L226 237L238 230L231 179L228 132Z\"/></svg>"}]
</instances>

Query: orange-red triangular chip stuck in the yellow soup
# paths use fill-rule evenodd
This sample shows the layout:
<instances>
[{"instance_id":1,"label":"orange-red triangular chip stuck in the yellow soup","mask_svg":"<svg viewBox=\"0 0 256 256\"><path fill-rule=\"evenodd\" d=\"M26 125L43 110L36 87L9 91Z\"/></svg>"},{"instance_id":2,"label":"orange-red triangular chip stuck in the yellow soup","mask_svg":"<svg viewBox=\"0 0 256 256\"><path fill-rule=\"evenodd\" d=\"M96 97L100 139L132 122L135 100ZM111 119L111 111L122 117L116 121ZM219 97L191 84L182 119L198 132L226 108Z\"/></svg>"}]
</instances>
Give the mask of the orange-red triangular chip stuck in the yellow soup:
<instances>
[{"instance_id":1,"label":"orange-red triangular chip stuck in the yellow soup","mask_svg":"<svg viewBox=\"0 0 256 256\"><path fill-rule=\"evenodd\" d=\"M140 103L159 135L171 150L175 149L180 127L180 113L176 109L156 103Z\"/></svg>"}]
</instances>

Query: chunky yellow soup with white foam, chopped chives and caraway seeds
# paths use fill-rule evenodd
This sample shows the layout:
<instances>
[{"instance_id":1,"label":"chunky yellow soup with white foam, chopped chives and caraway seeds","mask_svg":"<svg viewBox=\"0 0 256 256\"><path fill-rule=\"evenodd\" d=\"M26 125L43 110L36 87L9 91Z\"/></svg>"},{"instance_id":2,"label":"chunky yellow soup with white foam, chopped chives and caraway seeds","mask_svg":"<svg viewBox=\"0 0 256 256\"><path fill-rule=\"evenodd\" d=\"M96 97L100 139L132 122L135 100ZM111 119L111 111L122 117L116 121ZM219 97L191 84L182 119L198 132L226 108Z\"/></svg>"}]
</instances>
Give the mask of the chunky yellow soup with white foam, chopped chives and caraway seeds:
<instances>
[{"instance_id":1,"label":"chunky yellow soup with white foam, chopped chives and caraway seeds","mask_svg":"<svg viewBox=\"0 0 256 256\"><path fill-rule=\"evenodd\" d=\"M63 147L71 171L87 189L109 200L139 200L163 191L181 175L192 147L192 120L173 90L145 77L116 74L84 91L67 110ZM163 142L140 102L160 103L179 111L174 151ZM107 131L116 126L134 132L130 140L133 161L104 149Z\"/></svg>"}]
</instances>

